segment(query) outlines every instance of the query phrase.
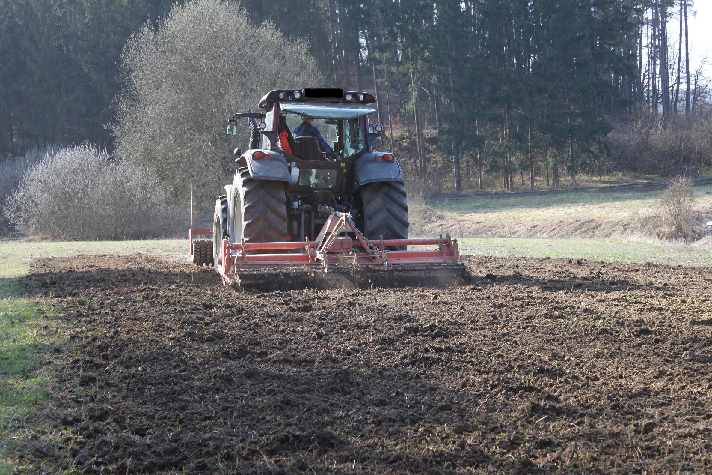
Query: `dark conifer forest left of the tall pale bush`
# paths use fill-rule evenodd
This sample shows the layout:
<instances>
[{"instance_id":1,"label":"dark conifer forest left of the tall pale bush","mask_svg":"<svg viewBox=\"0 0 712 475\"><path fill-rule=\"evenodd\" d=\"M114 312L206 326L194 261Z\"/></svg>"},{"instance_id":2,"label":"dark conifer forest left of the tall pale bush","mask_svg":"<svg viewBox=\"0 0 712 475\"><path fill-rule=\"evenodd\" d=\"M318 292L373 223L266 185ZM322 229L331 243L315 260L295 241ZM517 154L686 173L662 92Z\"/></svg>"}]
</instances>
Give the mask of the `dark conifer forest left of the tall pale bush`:
<instances>
[{"instance_id":1,"label":"dark conifer forest left of the tall pale bush","mask_svg":"<svg viewBox=\"0 0 712 475\"><path fill-rule=\"evenodd\" d=\"M96 142L119 90L127 38L173 0L0 0L0 154Z\"/></svg>"}]
</instances>

